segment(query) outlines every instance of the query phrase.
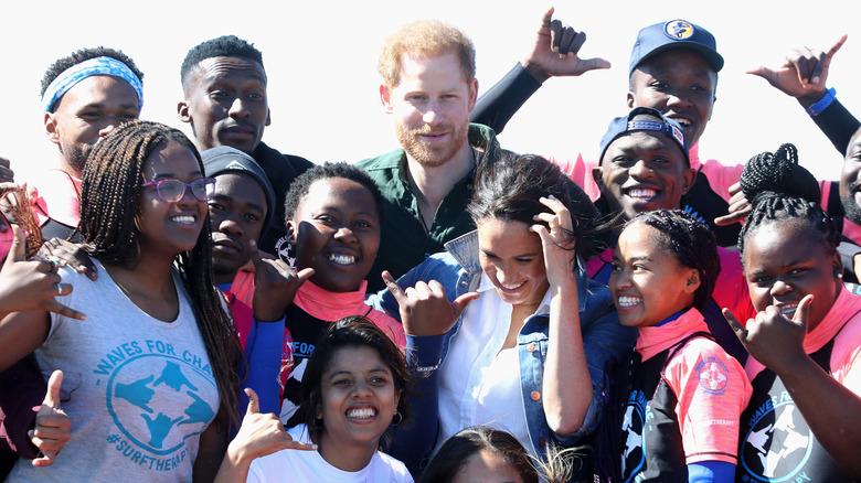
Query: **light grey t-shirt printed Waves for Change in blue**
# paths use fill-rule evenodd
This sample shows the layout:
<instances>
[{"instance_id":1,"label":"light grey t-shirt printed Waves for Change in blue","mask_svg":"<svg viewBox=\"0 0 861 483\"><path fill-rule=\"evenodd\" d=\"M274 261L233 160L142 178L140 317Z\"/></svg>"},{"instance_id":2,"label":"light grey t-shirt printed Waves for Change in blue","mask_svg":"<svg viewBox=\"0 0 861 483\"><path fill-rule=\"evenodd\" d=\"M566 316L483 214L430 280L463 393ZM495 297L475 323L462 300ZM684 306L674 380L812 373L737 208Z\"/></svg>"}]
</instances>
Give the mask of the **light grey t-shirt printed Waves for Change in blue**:
<instances>
[{"instance_id":1,"label":"light grey t-shirt printed Waves for Change in blue","mask_svg":"<svg viewBox=\"0 0 861 483\"><path fill-rule=\"evenodd\" d=\"M51 314L35 351L45 376L63 369L61 407L72 438L53 465L19 460L8 481L191 481L200 433L219 411L219 390L189 297L174 272L179 315L162 322L114 283L62 268L74 289L57 301L86 321Z\"/></svg>"}]
</instances>

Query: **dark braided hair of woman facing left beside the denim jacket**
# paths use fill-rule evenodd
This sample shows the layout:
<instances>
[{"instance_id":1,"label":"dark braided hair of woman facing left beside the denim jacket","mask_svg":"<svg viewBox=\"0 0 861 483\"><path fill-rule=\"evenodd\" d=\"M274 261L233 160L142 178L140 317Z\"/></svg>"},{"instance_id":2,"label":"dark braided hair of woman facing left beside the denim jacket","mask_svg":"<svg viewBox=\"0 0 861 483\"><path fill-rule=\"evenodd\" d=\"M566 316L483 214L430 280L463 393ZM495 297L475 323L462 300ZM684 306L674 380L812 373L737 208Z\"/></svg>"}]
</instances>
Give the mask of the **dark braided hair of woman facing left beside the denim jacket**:
<instances>
[{"instance_id":1,"label":"dark braided hair of woman facing left beside the denim jacket","mask_svg":"<svg viewBox=\"0 0 861 483\"><path fill-rule=\"evenodd\" d=\"M700 273L700 287L693 294L693 307L704 310L721 273L718 240L709 225L681 210L657 210L638 213L625 225L636 223L651 226L660 233L665 247L679 262Z\"/></svg>"}]
</instances>

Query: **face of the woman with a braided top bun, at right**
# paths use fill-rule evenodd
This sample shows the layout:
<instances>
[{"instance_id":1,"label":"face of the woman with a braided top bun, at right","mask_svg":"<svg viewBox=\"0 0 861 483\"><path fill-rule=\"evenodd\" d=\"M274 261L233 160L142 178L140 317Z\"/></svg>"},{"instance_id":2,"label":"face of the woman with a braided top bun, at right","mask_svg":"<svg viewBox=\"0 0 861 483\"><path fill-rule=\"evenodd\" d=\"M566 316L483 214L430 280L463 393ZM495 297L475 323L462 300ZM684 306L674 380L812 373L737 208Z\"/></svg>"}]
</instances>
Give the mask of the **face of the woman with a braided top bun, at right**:
<instances>
[{"instance_id":1,"label":"face of the woman with a braided top bun, at right","mask_svg":"<svg viewBox=\"0 0 861 483\"><path fill-rule=\"evenodd\" d=\"M805 221L768 222L748 232L743 257L747 289L757 311L777 305L791 318L798 302L814 294L808 331L825 319L839 294L840 255Z\"/></svg>"}]
</instances>

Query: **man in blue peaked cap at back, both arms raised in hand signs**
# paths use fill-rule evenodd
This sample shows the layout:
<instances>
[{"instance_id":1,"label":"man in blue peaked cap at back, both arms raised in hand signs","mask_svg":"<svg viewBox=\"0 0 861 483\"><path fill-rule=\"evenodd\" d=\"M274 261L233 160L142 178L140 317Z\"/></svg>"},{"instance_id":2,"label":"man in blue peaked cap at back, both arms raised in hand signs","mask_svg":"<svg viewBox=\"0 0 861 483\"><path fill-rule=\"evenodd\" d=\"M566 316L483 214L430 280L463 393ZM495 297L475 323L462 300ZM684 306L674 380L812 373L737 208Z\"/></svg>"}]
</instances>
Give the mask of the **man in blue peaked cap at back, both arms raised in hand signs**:
<instances>
[{"instance_id":1,"label":"man in blue peaked cap at back, both arms raised in hand signs","mask_svg":"<svg viewBox=\"0 0 861 483\"><path fill-rule=\"evenodd\" d=\"M609 63L602 58L581 60L577 55L565 55L565 45L560 46L561 37L580 37L578 42L568 42L573 45L571 51L576 54L585 41L585 34L563 26L559 20L552 20L552 14L553 10L545 12L527 57L478 100L472 111L474 122L486 124L501 132L508 120L548 78L577 76L592 68L609 67ZM556 51L554 43L559 46ZM839 44L826 54L827 60L830 61L840 47ZM809 86L801 86L798 82L805 74L796 73L791 58L787 58L787 66L778 71L761 67L751 74L765 77L775 88L797 98L842 153L849 137L841 129L846 109L825 87L828 67L827 62L822 63L821 60L819 67L810 67L812 74L807 73L811 79ZM801 61L805 60L795 60L798 64ZM700 137L705 131L718 99L718 73L723 63L714 35L704 28L682 19L648 25L639 31L631 50L627 105L631 109L657 109L682 126L690 147L691 168L698 173L684 197L683 207L710 224L719 245L734 246L741 227L733 222L738 219L738 215L715 218L726 215L730 205L740 201L733 196L735 189L732 187L738 182L744 165L724 165L713 159L701 160L699 152ZM808 65L806 61L804 64ZM584 68L584 65L589 67ZM814 82L817 69L821 73L821 82ZM591 176L597 161L585 160L582 154L571 160L552 161L571 174L593 200L600 194Z\"/></svg>"}]
</instances>

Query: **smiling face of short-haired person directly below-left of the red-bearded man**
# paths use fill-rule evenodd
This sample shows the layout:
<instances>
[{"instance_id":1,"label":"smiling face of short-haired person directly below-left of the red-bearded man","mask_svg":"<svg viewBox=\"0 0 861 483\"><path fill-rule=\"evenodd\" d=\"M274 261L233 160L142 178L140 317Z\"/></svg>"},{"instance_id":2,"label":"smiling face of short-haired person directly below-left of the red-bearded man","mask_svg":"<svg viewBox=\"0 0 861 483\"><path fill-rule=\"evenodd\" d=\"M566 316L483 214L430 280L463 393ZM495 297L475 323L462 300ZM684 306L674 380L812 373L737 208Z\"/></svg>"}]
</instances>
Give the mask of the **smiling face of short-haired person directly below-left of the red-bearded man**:
<instances>
[{"instance_id":1,"label":"smiling face of short-haired person directly below-left of the red-bearded man","mask_svg":"<svg viewBox=\"0 0 861 483\"><path fill-rule=\"evenodd\" d=\"M380 248L380 213L361 184L343 178L313 182L288 222L301 268L331 292L359 290Z\"/></svg>"}]
</instances>

